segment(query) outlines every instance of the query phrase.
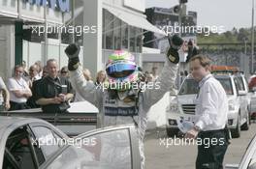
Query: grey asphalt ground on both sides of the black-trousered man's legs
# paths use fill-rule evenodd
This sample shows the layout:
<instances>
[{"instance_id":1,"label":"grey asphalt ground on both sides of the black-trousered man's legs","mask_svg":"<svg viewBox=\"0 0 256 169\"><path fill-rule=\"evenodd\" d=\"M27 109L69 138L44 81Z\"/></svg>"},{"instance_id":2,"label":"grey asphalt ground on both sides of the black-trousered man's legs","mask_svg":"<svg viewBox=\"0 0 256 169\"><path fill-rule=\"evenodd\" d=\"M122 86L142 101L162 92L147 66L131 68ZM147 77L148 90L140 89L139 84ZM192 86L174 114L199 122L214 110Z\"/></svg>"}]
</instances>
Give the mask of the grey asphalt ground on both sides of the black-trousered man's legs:
<instances>
[{"instance_id":1,"label":"grey asphalt ground on both sides of the black-trousered man's legs","mask_svg":"<svg viewBox=\"0 0 256 169\"><path fill-rule=\"evenodd\" d=\"M238 164L247 145L256 133L256 124L247 131L241 131L240 138L234 138L226 152L225 164ZM168 138L165 129L150 131L144 140L146 169L194 169L197 156L196 145L182 145L181 141Z\"/></svg>"}]
</instances>

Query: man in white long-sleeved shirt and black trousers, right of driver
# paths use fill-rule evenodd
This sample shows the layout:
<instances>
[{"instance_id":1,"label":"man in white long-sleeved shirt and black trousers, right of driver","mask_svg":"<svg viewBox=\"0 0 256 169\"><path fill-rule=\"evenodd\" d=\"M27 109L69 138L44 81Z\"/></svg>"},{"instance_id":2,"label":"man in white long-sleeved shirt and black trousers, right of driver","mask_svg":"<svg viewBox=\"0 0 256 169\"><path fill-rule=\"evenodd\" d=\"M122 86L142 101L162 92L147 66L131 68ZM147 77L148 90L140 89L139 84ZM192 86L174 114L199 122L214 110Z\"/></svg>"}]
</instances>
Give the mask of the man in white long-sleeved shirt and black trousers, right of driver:
<instances>
[{"instance_id":1,"label":"man in white long-sleeved shirt and black trousers, right of driver","mask_svg":"<svg viewBox=\"0 0 256 169\"><path fill-rule=\"evenodd\" d=\"M228 120L228 99L222 85L210 74L210 60L197 55L190 60L193 78L199 82L196 103L195 126L185 137L197 137L197 169L221 169L228 147L226 123ZM198 142L201 140L201 142Z\"/></svg>"}]
</instances>

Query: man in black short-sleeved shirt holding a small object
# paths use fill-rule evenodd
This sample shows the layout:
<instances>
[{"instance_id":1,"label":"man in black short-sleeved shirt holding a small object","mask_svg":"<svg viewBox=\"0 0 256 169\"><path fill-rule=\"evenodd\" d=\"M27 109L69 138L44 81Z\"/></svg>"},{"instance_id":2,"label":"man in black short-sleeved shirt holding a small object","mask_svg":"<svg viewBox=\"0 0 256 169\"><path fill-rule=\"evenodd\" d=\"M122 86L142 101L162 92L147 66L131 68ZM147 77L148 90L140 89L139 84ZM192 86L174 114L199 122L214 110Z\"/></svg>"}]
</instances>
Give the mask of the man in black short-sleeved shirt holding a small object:
<instances>
[{"instance_id":1,"label":"man in black short-sleeved shirt holding a small object","mask_svg":"<svg viewBox=\"0 0 256 169\"><path fill-rule=\"evenodd\" d=\"M37 89L36 103L42 106L44 113L64 113L70 107L69 100L74 92L67 78L58 76L57 61L47 62L48 76L44 77Z\"/></svg>"}]
</instances>

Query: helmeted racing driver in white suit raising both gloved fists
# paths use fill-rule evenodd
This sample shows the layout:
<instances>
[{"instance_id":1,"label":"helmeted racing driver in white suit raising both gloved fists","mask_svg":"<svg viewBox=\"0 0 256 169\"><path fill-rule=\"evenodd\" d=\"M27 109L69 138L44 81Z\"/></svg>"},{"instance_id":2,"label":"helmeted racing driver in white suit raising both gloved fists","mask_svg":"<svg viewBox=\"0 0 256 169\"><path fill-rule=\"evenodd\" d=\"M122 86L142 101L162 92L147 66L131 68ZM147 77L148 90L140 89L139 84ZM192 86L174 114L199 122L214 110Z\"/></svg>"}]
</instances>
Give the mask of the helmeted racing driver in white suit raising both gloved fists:
<instances>
[{"instance_id":1,"label":"helmeted racing driver in white suit raising both gloved fists","mask_svg":"<svg viewBox=\"0 0 256 169\"><path fill-rule=\"evenodd\" d=\"M106 64L108 83L102 84L107 90L102 90L98 86L89 85L82 76L80 67L80 47L70 44L65 53L69 57L68 69L70 70L70 80L72 86L80 93L83 99L93 103L100 111L101 127L135 124L138 127L138 139L141 153L141 168L144 169L144 131L146 128L146 114L150 107L164 94L175 86L177 63L179 56L177 50L183 44L183 40L178 36L169 38L170 48L167 52L165 66L155 83L159 83L159 88L147 89L142 92L135 88L135 84L140 81L140 71L135 63L135 57L123 50L116 50L109 56ZM113 160L121 159L116 156Z\"/></svg>"}]
</instances>

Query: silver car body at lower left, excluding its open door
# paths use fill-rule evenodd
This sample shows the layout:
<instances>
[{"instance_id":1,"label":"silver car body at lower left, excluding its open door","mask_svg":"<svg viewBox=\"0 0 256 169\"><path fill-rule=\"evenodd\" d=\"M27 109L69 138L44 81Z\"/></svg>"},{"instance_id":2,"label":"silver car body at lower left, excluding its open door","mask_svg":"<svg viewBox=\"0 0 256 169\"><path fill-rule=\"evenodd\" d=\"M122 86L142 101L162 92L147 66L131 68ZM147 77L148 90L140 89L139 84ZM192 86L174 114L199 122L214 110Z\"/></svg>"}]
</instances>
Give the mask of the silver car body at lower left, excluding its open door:
<instances>
[{"instance_id":1,"label":"silver car body at lower left, excluding its open door","mask_svg":"<svg viewBox=\"0 0 256 169\"><path fill-rule=\"evenodd\" d=\"M69 138L47 122L22 121L25 120L21 119L19 124L6 129L1 137L4 157L0 164L4 169L38 169L64 149L65 144L58 144L56 140Z\"/></svg>"}]
</instances>

